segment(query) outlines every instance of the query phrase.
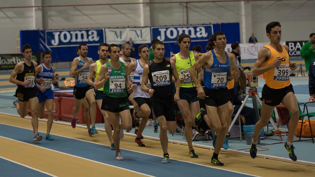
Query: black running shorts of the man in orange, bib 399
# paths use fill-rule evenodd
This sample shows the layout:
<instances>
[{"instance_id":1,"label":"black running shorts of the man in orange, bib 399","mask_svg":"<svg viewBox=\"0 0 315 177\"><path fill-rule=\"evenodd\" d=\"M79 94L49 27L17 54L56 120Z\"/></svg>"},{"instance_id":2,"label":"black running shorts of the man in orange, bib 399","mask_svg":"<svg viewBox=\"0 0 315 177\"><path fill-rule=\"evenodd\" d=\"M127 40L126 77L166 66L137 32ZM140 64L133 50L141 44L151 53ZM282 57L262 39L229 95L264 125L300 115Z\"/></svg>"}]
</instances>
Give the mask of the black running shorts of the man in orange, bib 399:
<instances>
[{"instance_id":1,"label":"black running shorts of the man in orange, bib 399","mask_svg":"<svg viewBox=\"0 0 315 177\"><path fill-rule=\"evenodd\" d=\"M284 96L287 95L289 92L293 92L294 94L292 84L279 89L270 88L265 84L262 88L260 99L261 101L265 100L264 102L268 106L277 106L281 103Z\"/></svg>"}]
</instances>

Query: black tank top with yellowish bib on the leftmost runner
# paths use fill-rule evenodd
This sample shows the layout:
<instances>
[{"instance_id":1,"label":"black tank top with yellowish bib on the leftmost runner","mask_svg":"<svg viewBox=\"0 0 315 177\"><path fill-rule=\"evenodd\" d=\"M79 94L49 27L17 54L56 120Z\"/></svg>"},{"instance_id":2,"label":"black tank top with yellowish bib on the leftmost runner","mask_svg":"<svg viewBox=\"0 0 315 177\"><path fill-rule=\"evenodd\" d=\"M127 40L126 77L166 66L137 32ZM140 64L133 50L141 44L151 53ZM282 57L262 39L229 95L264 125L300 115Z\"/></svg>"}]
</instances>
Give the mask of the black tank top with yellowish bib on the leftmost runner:
<instances>
[{"instance_id":1,"label":"black tank top with yellowish bib on the leftmost runner","mask_svg":"<svg viewBox=\"0 0 315 177\"><path fill-rule=\"evenodd\" d=\"M35 87L35 67L33 65L33 61L31 60L31 66L28 66L24 60L22 60L23 65L24 65L24 70L21 73L18 73L16 75L16 79L18 81L24 82L24 80L29 80L30 85L27 87L24 87L23 85L17 85L18 87L21 88L33 88Z\"/></svg>"}]
</instances>

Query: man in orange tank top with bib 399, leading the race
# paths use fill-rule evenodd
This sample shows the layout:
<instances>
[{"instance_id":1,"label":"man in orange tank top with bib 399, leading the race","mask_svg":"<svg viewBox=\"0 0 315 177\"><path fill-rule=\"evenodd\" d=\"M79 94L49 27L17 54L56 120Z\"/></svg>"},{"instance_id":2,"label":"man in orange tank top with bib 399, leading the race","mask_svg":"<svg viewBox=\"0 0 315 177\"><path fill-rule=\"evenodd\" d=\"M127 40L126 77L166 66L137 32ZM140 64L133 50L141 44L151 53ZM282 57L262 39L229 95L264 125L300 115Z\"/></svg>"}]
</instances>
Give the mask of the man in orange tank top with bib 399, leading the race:
<instances>
[{"instance_id":1,"label":"man in orange tank top with bib 399, leading the race","mask_svg":"<svg viewBox=\"0 0 315 177\"><path fill-rule=\"evenodd\" d=\"M252 143L250 144L250 156L256 157L257 137L264 128L274 110L275 106L282 103L290 112L289 135L284 144L289 153L289 157L296 161L293 146L293 137L299 121L299 108L294 95L293 86L290 83L289 68L295 70L295 63L289 62L289 47L281 45L281 25L278 21L270 22L266 26L266 35L270 40L258 53L258 59L254 64L253 77L264 74L266 84L261 92L261 118L255 125Z\"/></svg>"}]
</instances>

